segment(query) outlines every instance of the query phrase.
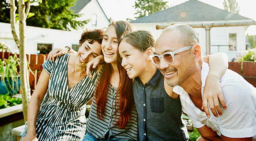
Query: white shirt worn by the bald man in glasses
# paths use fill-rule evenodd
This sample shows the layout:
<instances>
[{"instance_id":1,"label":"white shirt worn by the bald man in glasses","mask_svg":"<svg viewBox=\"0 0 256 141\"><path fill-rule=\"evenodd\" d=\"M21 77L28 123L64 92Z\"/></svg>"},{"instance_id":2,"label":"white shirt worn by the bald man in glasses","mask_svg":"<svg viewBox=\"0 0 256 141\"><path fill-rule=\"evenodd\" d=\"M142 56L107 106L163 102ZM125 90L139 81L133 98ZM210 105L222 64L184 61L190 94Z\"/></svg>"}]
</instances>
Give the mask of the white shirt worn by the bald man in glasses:
<instances>
[{"instance_id":1,"label":"white shirt worn by the bald man in glasses","mask_svg":"<svg viewBox=\"0 0 256 141\"><path fill-rule=\"evenodd\" d=\"M203 88L209 72L209 65L202 66L202 96ZM256 140L256 88L249 84L241 75L227 70L220 79L222 93L227 109L222 109L222 116L217 118L212 114L207 118L205 112L193 104L188 93L180 86L175 86L173 92L180 95L182 111L192 120L196 128L207 125L219 136L242 138L253 137Z\"/></svg>"}]
</instances>

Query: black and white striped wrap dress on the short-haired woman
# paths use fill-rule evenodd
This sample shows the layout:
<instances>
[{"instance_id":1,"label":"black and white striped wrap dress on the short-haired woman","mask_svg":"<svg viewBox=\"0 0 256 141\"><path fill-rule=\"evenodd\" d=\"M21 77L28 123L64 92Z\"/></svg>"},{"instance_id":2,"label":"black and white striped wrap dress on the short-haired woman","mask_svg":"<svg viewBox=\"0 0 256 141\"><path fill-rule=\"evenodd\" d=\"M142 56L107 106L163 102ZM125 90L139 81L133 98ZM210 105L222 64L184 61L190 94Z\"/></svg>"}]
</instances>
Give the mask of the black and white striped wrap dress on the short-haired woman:
<instances>
[{"instance_id":1,"label":"black and white striped wrap dress on the short-haired woman","mask_svg":"<svg viewBox=\"0 0 256 141\"><path fill-rule=\"evenodd\" d=\"M70 54L47 60L43 67L50 74L48 91L41 103L37 118L38 141L80 141L86 129L86 103L92 98L97 69L68 89L68 59ZM21 134L26 135L26 128Z\"/></svg>"}]
</instances>

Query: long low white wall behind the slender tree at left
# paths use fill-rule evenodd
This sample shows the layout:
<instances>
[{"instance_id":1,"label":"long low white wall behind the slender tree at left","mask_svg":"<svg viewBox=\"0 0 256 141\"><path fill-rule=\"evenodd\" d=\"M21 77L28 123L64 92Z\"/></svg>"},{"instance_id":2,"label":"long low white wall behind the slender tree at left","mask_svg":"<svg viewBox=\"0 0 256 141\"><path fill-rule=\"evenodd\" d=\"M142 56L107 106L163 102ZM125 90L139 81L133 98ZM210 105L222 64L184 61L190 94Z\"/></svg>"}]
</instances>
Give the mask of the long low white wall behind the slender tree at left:
<instances>
[{"instance_id":1,"label":"long low white wall behind the slender tree at left","mask_svg":"<svg viewBox=\"0 0 256 141\"><path fill-rule=\"evenodd\" d=\"M19 34L19 26L16 28L16 32ZM42 36L43 34L45 37ZM26 54L37 54L37 44L40 43L53 44L53 49L79 44L81 34L82 32L26 26L25 52ZM11 34L11 24L0 22L0 40L5 41L6 45L10 45L12 50L17 49Z\"/></svg>"}]
</instances>

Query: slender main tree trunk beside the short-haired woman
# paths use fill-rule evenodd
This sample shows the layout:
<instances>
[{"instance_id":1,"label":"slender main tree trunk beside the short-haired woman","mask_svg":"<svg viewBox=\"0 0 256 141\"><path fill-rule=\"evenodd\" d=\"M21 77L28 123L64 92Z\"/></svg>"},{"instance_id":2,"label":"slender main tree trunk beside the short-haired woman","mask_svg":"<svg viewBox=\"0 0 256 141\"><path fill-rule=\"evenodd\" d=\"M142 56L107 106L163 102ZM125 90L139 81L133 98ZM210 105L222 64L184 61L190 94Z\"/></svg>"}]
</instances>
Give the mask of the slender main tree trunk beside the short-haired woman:
<instances>
[{"instance_id":1,"label":"slender main tree trunk beside the short-haired woman","mask_svg":"<svg viewBox=\"0 0 256 141\"><path fill-rule=\"evenodd\" d=\"M24 0L19 0L19 61L20 61L20 87L22 94L23 116L24 121L27 121L27 85L26 85L26 53L25 53L25 28L26 28L26 14Z\"/></svg>"}]
</instances>

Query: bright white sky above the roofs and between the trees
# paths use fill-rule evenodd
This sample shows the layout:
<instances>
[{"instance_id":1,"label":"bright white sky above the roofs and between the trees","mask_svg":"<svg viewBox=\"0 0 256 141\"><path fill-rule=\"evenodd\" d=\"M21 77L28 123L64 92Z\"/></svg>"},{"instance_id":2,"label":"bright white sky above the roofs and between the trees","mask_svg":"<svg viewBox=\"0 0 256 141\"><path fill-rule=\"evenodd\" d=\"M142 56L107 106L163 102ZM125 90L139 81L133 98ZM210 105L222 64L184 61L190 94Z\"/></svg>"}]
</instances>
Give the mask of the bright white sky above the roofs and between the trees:
<instances>
[{"instance_id":1,"label":"bright white sky above the roofs and between the trees","mask_svg":"<svg viewBox=\"0 0 256 141\"><path fill-rule=\"evenodd\" d=\"M169 1L168 5L178 5L182 4L188 0L164 0ZM203 3L224 9L223 1L224 0L199 0ZM134 19L135 8L132 7L135 5L135 0L98 0L103 11L105 12L108 18L113 19L114 21L123 20L126 21L127 18ZM237 0L238 6L240 7L239 14L253 19L256 21L256 0ZM245 34L256 35L256 26L249 26Z\"/></svg>"}]
</instances>

